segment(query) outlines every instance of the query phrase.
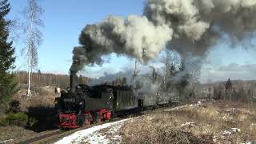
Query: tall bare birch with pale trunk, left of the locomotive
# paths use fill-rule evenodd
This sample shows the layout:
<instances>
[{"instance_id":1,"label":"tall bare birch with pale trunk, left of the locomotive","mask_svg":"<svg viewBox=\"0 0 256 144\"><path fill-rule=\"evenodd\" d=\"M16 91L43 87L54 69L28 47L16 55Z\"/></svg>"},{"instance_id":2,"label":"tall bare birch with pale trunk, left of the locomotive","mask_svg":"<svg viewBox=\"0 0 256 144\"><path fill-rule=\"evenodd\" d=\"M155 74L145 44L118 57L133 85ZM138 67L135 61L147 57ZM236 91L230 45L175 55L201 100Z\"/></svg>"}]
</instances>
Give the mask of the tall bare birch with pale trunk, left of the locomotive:
<instances>
[{"instance_id":1,"label":"tall bare birch with pale trunk, left of the locomotive","mask_svg":"<svg viewBox=\"0 0 256 144\"><path fill-rule=\"evenodd\" d=\"M28 6L24 10L26 17L25 29L26 34L26 57L28 64L28 90L27 95L31 95L31 77L32 71L38 66L38 46L42 44L42 32L40 28L43 27L41 19L43 10L39 6L38 0L28 0Z\"/></svg>"}]
</instances>

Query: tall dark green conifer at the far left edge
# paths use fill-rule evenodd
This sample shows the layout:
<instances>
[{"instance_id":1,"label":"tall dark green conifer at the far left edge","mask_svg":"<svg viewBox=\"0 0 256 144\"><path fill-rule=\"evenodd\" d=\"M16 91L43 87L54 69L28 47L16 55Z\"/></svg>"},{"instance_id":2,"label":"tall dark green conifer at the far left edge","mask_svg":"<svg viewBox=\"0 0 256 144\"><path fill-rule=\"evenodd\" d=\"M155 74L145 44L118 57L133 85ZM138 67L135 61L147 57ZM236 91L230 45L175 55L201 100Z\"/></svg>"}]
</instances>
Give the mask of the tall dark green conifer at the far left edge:
<instances>
[{"instance_id":1,"label":"tall dark green conifer at the far left edge","mask_svg":"<svg viewBox=\"0 0 256 144\"><path fill-rule=\"evenodd\" d=\"M0 104L6 105L10 102L15 92L14 83L14 47L9 38L8 26L10 20L6 20L6 15L10 12L10 3L8 0L0 1Z\"/></svg>"}]
</instances>

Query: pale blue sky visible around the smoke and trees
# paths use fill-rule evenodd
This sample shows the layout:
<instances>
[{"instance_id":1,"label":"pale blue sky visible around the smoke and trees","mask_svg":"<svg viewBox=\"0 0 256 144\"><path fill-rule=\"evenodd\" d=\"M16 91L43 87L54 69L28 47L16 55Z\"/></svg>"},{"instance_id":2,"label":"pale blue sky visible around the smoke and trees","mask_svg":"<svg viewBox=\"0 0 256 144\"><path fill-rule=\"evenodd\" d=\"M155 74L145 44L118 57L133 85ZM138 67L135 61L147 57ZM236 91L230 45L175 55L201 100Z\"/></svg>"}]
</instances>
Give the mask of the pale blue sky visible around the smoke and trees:
<instances>
[{"instance_id":1,"label":"pale blue sky visible around the smoke and trees","mask_svg":"<svg viewBox=\"0 0 256 144\"><path fill-rule=\"evenodd\" d=\"M72 50L79 46L78 37L87 24L100 22L108 15L127 17L129 14L142 15L145 0L40 0L45 10L42 15L44 28L43 42L38 48L38 70L45 73L68 74L72 63ZM22 19L26 0L10 0L10 19ZM201 70L201 82L215 82L231 79L256 79L255 38L252 46L231 46L225 40L219 42L207 54ZM16 68L26 70L26 58L21 54L22 42L14 42L16 47ZM105 72L117 73L132 69L134 61L111 54L109 62L102 66L86 68L81 74L98 78ZM155 63L157 65L157 63Z\"/></svg>"}]
</instances>

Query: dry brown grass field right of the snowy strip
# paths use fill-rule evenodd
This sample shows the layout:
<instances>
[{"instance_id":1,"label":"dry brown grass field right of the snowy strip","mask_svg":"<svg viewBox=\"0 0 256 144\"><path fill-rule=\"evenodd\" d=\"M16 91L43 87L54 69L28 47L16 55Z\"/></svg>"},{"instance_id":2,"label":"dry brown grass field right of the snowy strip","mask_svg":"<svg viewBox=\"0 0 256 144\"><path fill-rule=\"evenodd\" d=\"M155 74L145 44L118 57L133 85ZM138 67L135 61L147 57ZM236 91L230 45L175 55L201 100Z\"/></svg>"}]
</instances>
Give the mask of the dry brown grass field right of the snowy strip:
<instances>
[{"instance_id":1,"label":"dry brown grass field right of the snowy strip","mask_svg":"<svg viewBox=\"0 0 256 144\"><path fill-rule=\"evenodd\" d=\"M236 112L230 114L235 107ZM194 122L194 126L182 126ZM122 126L125 143L241 143L256 142L255 109L241 103L207 103L159 114L148 114ZM238 133L223 136L225 130Z\"/></svg>"}]
</instances>

